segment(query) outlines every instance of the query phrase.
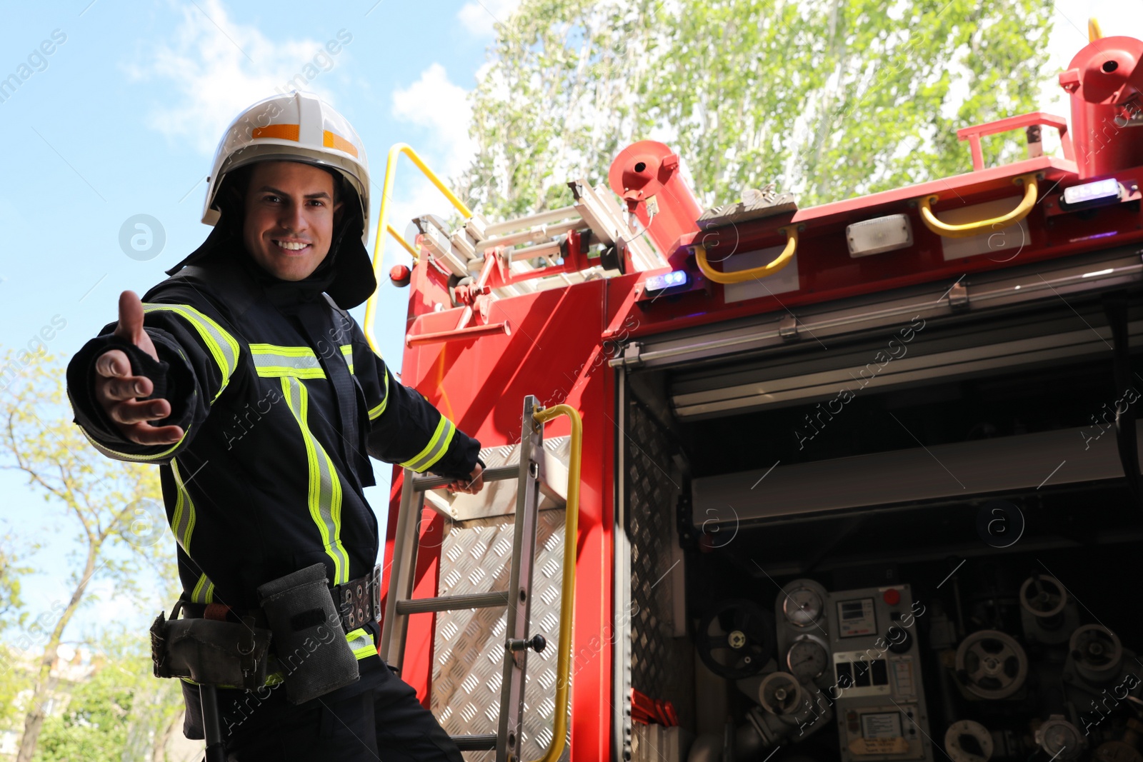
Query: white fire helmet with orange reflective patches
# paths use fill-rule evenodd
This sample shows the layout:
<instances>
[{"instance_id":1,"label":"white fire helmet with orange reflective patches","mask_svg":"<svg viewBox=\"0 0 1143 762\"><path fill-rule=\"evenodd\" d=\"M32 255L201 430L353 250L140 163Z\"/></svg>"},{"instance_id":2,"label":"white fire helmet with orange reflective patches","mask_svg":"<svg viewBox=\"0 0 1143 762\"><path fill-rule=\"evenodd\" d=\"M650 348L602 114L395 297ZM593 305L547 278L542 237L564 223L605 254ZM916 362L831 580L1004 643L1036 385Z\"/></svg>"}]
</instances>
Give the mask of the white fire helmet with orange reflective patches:
<instances>
[{"instance_id":1,"label":"white fire helmet with orange reflective patches","mask_svg":"<svg viewBox=\"0 0 1143 762\"><path fill-rule=\"evenodd\" d=\"M239 167L256 161L303 161L337 170L361 203L361 242L369 236L369 162L361 138L334 107L311 93L274 95L238 115L215 152L202 222L218 223L216 194Z\"/></svg>"}]
</instances>

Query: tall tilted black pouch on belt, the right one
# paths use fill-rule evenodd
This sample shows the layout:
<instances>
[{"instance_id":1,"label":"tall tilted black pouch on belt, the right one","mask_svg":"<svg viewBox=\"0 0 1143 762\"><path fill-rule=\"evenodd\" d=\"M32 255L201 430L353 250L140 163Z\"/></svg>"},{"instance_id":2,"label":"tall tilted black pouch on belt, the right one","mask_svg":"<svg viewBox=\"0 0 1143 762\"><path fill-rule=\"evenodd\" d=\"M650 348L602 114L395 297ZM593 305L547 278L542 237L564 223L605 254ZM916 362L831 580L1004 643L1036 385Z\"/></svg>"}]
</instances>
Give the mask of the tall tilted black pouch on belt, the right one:
<instances>
[{"instance_id":1,"label":"tall tilted black pouch on belt, the right one","mask_svg":"<svg viewBox=\"0 0 1143 762\"><path fill-rule=\"evenodd\" d=\"M359 680L357 657L334 608L326 564L315 563L258 587L274 634L286 697L302 704Z\"/></svg>"}]
</instances>

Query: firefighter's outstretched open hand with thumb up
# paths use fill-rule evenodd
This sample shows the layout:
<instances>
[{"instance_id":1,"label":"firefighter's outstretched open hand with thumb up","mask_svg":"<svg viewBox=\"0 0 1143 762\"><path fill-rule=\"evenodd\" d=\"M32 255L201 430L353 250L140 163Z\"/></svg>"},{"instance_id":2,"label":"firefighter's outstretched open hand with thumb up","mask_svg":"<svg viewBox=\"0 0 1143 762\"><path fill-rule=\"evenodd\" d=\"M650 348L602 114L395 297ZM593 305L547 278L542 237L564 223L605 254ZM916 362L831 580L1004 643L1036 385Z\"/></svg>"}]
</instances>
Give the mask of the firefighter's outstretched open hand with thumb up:
<instances>
[{"instance_id":1,"label":"firefighter's outstretched open hand with thumb up","mask_svg":"<svg viewBox=\"0 0 1143 762\"><path fill-rule=\"evenodd\" d=\"M119 295L115 336L159 359L154 343L143 330L143 303L134 291ZM170 402L167 400L142 399L153 391L154 384L150 378L131 375L126 352L107 350L95 361L95 399L122 435L136 444L173 444L183 438L179 426L152 426L149 423L170 415Z\"/></svg>"}]
</instances>

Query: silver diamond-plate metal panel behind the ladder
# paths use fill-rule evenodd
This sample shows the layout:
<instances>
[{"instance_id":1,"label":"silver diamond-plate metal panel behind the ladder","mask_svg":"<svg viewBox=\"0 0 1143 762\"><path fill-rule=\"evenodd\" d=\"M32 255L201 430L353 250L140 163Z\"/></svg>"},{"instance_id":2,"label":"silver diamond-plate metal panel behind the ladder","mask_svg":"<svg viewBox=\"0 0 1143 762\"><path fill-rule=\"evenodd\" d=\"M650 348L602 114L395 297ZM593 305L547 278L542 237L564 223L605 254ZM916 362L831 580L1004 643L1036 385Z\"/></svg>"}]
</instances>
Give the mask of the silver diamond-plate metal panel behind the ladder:
<instances>
[{"instance_id":1,"label":"silver diamond-plate metal panel behind the ladder","mask_svg":"<svg viewBox=\"0 0 1143 762\"><path fill-rule=\"evenodd\" d=\"M541 511L536 529L530 632L543 634L549 648L543 653L528 653L521 751L529 760L538 759L547 748L555 714L565 514L562 508ZM507 589L514 522L514 514L446 522L440 595ZM501 608L437 615L432 712L450 736L496 732L505 627L506 613ZM493 762L496 753L465 752L464 756L473 762ZM565 748L561 759L567 757Z\"/></svg>"}]
</instances>

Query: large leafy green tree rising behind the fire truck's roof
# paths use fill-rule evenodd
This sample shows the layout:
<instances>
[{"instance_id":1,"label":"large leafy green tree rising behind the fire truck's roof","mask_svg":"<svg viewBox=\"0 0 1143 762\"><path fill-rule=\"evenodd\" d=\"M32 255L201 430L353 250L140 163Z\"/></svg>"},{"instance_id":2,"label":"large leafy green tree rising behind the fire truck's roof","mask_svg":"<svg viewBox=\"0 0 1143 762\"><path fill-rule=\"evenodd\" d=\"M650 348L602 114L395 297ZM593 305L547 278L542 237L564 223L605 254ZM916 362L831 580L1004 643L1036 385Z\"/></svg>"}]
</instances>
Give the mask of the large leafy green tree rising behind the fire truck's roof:
<instances>
[{"instance_id":1,"label":"large leafy green tree rising behind the fire truck's roof","mask_svg":"<svg viewBox=\"0 0 1143 762\"><path fill-rule=\"evenodd\" d=\"M523 0L473 94L462 189L490 217L563 206L632 141L676 147L706 204L801 206L969 169L956 130L1038 106L1048 0ZM1023 149L986 142L992 160Z\"/></svg>"}]
</instances>

